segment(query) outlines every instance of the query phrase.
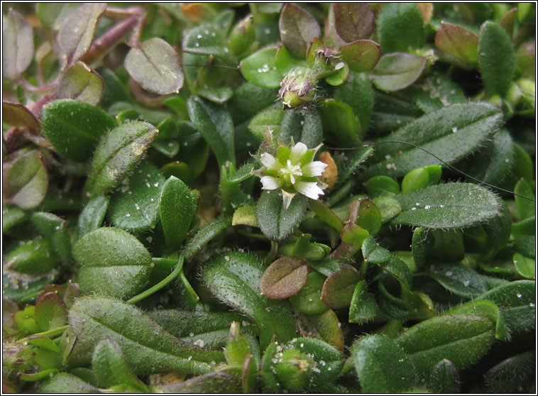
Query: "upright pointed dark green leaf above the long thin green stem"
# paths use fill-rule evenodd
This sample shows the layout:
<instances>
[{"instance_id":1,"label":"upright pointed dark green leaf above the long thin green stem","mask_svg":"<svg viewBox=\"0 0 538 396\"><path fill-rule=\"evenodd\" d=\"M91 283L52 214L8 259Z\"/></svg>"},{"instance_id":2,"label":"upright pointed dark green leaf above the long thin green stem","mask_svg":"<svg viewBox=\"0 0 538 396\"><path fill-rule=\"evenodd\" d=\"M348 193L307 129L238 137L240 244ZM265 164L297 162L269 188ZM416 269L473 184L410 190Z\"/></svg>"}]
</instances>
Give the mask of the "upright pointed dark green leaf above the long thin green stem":
<instances>
[{"instance_id":1,"label":"upright pointed dark green leaf above the long thin green stem","mask_svg":"<svg viewBox=\"0 0 538 396\"><path fill-rule=\"evenodd\" d=\"M190 189L177 177L170 176L160 194L160 221L165 232L166 245L172 251L180 248L196 211Z\"/></svg>"}]
</instances>

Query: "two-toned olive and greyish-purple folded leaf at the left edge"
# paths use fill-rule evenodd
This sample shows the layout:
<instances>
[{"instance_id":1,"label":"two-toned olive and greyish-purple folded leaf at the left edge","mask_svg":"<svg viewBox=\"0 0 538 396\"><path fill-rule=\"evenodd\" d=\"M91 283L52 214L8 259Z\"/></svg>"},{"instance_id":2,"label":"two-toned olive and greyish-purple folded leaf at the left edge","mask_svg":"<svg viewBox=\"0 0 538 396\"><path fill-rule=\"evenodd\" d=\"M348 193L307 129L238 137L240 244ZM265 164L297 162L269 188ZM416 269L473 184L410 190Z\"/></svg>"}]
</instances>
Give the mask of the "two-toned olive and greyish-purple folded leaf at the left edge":
<instances>
[{"instance_id":1,"label":"two-toned olive and greyish-purple folded leaf at the left edge","mask_svg":"<svg viewBox=\"0 0 538 396\"><path fill-rule=\"evenodd\" d=\"M31 150L17 158L7 171L4 164L4 199L22 209L37 207L48 189L48 171L45 158L38 150Z\"/></svg>"}]
</instances>

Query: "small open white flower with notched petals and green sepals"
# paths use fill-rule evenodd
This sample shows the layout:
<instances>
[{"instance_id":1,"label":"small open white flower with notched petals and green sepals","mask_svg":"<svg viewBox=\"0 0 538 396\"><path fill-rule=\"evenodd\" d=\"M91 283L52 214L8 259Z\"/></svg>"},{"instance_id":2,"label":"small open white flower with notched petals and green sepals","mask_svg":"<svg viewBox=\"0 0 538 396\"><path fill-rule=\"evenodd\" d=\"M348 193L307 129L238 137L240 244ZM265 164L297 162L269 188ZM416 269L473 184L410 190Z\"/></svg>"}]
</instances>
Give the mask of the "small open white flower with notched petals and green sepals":
<instances>
[{"instance_id":1,"label":"small open white flower with notched petals and green sepals","mask_svg":"<svg viewBox=\"0 0 538 396\"><path fill-rule=\"evenodd\" d=\"M260 177L262 189L282 190L284 208L290 207L295 194L303 194L310 199L318 199L323 195L326 185L317 177L321 176L327 166L321 161L314 161L314 155L322 145L309 150L304 143L297 143L292 148L282 146L273 157L263 153L260 162L263 167L254 172Z\"/></svg>"}]
</instances>

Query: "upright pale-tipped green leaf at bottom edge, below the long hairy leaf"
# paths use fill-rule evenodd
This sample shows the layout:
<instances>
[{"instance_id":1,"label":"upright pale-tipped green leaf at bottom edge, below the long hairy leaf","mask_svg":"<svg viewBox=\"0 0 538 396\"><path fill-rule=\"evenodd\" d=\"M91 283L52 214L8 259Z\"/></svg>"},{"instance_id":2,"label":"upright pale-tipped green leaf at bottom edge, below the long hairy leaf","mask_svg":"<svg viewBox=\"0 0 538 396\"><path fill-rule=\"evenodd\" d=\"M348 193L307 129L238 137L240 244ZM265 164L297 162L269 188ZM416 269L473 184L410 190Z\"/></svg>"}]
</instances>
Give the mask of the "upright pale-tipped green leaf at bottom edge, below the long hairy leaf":
<instances>
[{"instance_id":1,"label":"upright pale-tipped green leaf at bottom edge, below the long hairy leaf","mask_svg":"<svg viewBox=\"0 0 538 396\"><path fill-rule=\"evenodd\" d=\"M110 337L99 341L95 346L92 368L101 387L123 384L135 392L144 393L148 390L128 366L118 343Z\"/></svg>"}]
</instances>

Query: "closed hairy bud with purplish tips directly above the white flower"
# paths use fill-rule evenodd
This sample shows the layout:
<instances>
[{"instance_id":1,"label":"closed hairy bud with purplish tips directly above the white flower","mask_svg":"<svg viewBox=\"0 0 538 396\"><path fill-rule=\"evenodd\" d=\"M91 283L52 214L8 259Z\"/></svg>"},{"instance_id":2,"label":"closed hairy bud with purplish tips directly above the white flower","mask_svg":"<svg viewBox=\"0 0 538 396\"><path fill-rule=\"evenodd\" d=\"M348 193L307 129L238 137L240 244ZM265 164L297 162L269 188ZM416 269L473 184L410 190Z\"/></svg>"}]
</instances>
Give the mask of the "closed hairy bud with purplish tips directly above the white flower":
<instances>
[{"instance_id":1,"label":"closed hairy bud with purplish tips directly above the white flower","mask_svg":"<svg viewBox=\"0 0 538 396\"><path fill-rule=\"evenodd\" d=\"M280 82L278 97L282 101L282 106L291 109L309 104L316 96L316 84L317 79L308 71L291 70Z\"/></svg>"}]
</instances>

